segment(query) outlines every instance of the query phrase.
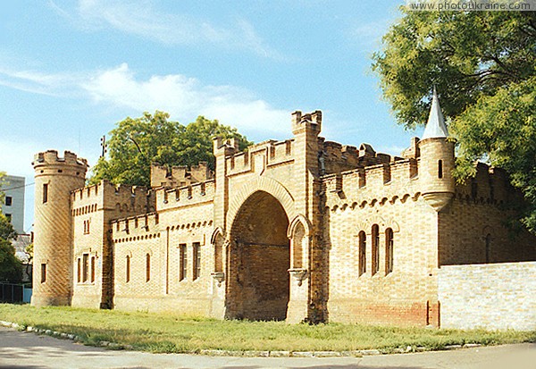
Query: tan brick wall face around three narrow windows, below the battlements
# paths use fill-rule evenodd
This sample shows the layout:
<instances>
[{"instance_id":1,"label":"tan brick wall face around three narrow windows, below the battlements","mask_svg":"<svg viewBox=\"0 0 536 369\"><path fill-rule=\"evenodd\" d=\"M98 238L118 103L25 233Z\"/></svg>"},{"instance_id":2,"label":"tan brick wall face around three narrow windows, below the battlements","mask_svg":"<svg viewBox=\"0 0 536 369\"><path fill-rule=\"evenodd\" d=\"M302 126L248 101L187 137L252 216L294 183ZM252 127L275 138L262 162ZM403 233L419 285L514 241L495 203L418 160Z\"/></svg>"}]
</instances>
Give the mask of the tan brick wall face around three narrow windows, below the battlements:
<instances>
[{"instance_id":1,"label":"tan brick wall face around three narrow windows, below the battlements","mask_svg":"<svg viewBox=\"0 0 536 369\"><path fill-rule=\"evenodd\" d=\"M326 209L324 224L330 321L437 325L437 214L422 197ZM380 268L374 274L373 224L380 239ZM388 228L393 230L390 273L385 269ZM366 239L362 275L360 231Z\"/></svg>"}]
</instances>

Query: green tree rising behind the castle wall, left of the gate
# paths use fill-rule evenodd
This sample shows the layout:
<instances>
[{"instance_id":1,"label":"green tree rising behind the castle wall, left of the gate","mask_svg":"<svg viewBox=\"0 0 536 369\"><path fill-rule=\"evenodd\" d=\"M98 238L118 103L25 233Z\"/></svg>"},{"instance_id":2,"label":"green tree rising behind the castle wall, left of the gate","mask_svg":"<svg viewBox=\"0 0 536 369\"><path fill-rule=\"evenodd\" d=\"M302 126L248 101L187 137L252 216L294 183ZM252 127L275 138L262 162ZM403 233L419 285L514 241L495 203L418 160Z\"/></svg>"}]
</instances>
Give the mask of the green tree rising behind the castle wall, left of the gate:
<instances>
[{"instance_id":1,"label":"green tree rising behind the castle wall, left of the gate","mask_svg":"<svg viewBox=\"0 0 536 369\"><path fill-rule=\"evenodd\" d=\"M127 118L117 123L108 141L109 159L101 157L93 168L90 183L111 180L113 183L149 187L153 163L193 165L206 161L214 169L212 154L214 136L239 138L240 149L251 145L238 130L209 121L202 116L183 126L168 121L169 114L156 111L140 118Z\"/></svg>"}]
</instances>

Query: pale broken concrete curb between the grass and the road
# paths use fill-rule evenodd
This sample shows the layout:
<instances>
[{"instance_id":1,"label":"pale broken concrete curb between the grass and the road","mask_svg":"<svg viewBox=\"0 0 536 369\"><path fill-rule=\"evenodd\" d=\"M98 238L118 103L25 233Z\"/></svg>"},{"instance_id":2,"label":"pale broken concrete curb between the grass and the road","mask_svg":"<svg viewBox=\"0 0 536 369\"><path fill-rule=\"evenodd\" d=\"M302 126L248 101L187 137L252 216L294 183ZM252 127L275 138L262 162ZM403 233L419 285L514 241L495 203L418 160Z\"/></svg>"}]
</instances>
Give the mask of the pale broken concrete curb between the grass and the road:
<instances>
[{"instance_id":1,"label":"pale broken concrete curb between the grass and the road","mask_svg":"<svg viewBox=\"0 0 536 369\"><path fill-rule=\"evenodd\" d=\"M7 328L13 328L18 331L29 331L37 334L46 334L47 336L54 337L56 339L72 340L74 342L82 342L80 336L70 333L62 333L59 331L44 330L30 325L22 325L18 323L11 323L0 321L0 326ZM98 343L98 347L110 348L110 349L126 349L134 350L131 345L121 345L115 342L109 342L102 340ZM445 346L443 350L454 350L459 348L479 348L481 344L467 343L465 345L449 345ZM424 352L432 351L429 348L412 347L406 348L386 348L386 349L362 349L353 351L234 351L234 350L222 350L222 349L202 349L198 352L184 352L183 354L198 354L205 356L247 356L247 357L362 357L371 355L386 355L386 354L407 354L412 352Z\"/></svg>"}]
</instances>

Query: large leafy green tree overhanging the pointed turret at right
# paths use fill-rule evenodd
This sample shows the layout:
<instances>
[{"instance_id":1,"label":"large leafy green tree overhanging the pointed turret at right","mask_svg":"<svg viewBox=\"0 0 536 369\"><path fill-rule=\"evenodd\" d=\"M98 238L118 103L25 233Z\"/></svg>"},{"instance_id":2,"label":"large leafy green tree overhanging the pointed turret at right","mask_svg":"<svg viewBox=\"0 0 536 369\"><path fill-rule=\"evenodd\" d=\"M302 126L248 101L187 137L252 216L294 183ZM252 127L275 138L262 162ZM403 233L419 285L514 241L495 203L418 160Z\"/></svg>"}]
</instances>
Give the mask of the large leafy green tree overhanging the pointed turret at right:
<instances>
[{"instance_id":1,"label":"large leafy green tree overhanging the pointed turret at right","mask_svg":"<svg viewBox=\"0 0 536 369\"><path fill-rule=\"evenodd\" d=\"M409 12L383 37L373 71L399 124L426 122L431 89L456 138L456 177L506 169L536 233L536 13Z\"/></svg>"}]
</instances>

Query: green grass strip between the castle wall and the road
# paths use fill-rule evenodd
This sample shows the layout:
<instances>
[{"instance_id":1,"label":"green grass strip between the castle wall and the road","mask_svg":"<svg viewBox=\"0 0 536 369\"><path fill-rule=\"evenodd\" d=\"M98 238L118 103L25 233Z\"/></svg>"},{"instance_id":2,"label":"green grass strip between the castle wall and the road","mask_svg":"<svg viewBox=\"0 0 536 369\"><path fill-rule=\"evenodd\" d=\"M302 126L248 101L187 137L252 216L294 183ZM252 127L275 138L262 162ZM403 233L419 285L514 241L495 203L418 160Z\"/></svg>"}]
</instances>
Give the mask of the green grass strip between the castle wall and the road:
<instances>
[{"instance_id":1,"label":"green grass strip between the castle wall and the road","mask_svg":"<svg viewBox=\"0 0 536 369\"><path fill-rule=\"evenodd\" d=\"M152 352L201 349L351 351L480 343L536 342L536 331L456 331L329 323L220 321L179 314L125 313L72 307L0 304L0 320L80 336L87 345L100 341Z\"/></svg>"}]
</instances>

